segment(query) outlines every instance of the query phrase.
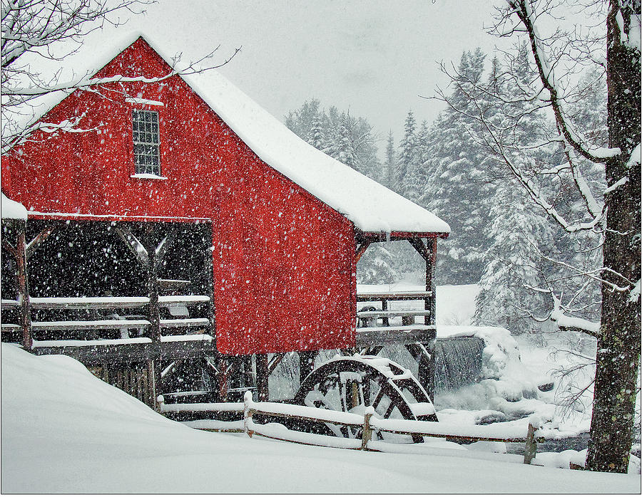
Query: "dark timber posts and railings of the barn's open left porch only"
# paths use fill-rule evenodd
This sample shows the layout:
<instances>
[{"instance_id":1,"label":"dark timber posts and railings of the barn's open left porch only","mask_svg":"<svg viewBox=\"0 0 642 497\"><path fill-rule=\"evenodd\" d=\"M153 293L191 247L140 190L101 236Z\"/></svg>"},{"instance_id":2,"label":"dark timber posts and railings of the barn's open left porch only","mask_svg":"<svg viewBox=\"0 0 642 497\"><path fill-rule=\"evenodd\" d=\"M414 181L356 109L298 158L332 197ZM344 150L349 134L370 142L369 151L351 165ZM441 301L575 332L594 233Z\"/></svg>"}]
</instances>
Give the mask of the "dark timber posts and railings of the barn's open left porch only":
<instances>
[{"instance_id":1,"label":"dark timber posts and railings of the barn's open left porch only","mask_svg":"<svg viewBox=\"0 0 642 497\"><path fill-rule=\"evenodd\" d=\"M160 362L161 360L199 360L205 356L216 356L218 352L215 340L172 340L171 336L161 340L161 328L180 328L197 326L208 333L213 330L213 303L211 298L195 298L193 303L202 305L207 300L208 318L192 318L185 320L161 320L161 308L173 305L175 302L182 302L181 297L164 297L160 301L158 287L158 269L163 263L168 249L175 239L175 226L173 222L151 222L151 221L69 221L51 220L36 221L36 224L44 224L39 233L27 241L27 222L19 219L2 219L3 238L2 247L16 261L16 300L4 299L3 310L17 309L19 324L11 325L2 323L3 332L21 330L21 345L36 355L63 354L74 357L90 367L93 372L103 380L115 384L126 392L143 400L151 407L157 408L156 393L161 382ZM147 275L144 286L147 288L145 298L118 298L118 297L91 297L91 298L34 298L35 305L31 305L29 293L29 270L27 262L34 251L41 246L54 231L64 234L69 227L81 230L81 233L101 233L108 226L114 229L126 242L126 246L135 254L136 259L143 266ZM132 229L138 229L141 241L133 234ZM7 236L11 234L11 236ZM165 235L160 243L158 238ZM207 241L207 250L204 254L205 271L208 273L206 281L209 283L211 295L212 282L212 255L209 250L211 235ZM33 268L32 268L33 269ZM69 268L73 271L73 268ZM186 305L190 300L186 300ZM54 322L32 322L32 310L39 309L47 312L60 312L62 310L90 310L95 312L98 309L126 309L146 307L147 320L70 320L61 323ZM57 311L56 311L57 310ZM46 344L36 342L34 346L34 331L41 333L52 333L56 330L66 331L83 330L83 333L91 333L91 330L118 330L121 328L138 328L146 330L149 342L141 342L140 339L127 342L126 340L106 340L105 343L88 341L87 344L68 342L66 340L50 340ZM59 342L58 343L56 342Z\"/></svg>"}]
</instances>

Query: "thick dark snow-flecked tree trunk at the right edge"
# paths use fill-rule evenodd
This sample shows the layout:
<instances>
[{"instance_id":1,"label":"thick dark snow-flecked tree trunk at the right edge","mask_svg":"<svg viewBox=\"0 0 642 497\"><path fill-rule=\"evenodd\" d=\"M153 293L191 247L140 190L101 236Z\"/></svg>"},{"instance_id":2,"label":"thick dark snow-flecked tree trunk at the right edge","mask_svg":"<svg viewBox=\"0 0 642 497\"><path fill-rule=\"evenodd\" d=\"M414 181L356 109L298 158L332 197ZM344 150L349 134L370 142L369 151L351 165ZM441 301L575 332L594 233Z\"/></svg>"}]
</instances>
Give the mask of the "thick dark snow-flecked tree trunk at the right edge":
<instances>
[{"instance_id":1,"label":"thick dark snow-flecked tree trunk at the right edge","mask_svg":"<svg viewBox=\"0 0 642 497\"><path fill-rule=\"evenodd\" d=\"M609 146L621 155L608 160L606 181L611 187L624 177L626 183L605 195L608 209L603 245L603 266L636 283L641 276L640 164L629 162L641 133L640 53L623 43L631 12L640 14L639 0L611 0L607 18L607 84ZM621 26L618 25L618 14ZM606 281L617 283L609 271ZM602 317L598 338L595 394L587 467L592 471L626 473L633 441L636 382L640 365L640 301L629 291L602 285Z\"/></svg>"}]
</instances>

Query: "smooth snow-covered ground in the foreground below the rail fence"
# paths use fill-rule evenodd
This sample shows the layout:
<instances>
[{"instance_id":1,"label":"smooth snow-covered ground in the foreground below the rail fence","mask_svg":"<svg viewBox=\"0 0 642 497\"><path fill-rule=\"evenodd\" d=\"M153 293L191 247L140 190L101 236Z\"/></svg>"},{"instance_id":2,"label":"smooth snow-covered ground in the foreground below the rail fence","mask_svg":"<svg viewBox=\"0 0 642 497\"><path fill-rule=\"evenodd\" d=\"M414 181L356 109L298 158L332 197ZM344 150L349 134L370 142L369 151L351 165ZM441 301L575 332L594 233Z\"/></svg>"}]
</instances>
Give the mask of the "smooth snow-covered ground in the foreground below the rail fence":
<instances>
[{"instance_id":1,"label":"smooth snow-covered ground in the foreground below the rail fence","mask_svg":"<svg viewBox=\"0 0 642 497\"><path fill-rule=\"evenodd\" d=\"M2 344L3 493L639 493L638 475L379 454L165 419L70 357Z\"/></svg>"}]
</instances>

